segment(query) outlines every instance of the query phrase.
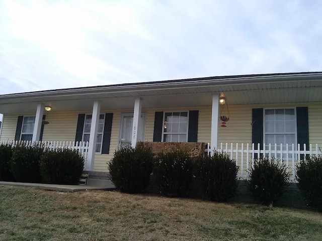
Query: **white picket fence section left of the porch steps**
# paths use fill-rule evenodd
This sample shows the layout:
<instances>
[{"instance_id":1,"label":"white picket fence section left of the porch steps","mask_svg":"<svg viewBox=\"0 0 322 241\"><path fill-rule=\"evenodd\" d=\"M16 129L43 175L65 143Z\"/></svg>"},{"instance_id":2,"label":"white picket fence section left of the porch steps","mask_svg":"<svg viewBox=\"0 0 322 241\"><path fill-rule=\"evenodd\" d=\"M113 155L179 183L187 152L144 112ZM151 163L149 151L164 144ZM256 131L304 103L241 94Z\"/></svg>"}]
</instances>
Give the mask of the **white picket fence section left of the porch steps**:
<instances>
[{"instance_id":1,"label":"white picket fence section left of the porch steps","mask_svg":"<svg viewBox=\"0 0 322 241\"><path fill-rule=\"evenodd\" d=\"M31 142L31 141L2 141L0 145L25 145L25 146L36 146L36 145L43 145L44 148L49 150L57 150L57 149L71 149L76 150L78 153L82 154L85 159L85 164L87 162L87 155L89 150L89 142Z\"/></svg>"}]
</instances>

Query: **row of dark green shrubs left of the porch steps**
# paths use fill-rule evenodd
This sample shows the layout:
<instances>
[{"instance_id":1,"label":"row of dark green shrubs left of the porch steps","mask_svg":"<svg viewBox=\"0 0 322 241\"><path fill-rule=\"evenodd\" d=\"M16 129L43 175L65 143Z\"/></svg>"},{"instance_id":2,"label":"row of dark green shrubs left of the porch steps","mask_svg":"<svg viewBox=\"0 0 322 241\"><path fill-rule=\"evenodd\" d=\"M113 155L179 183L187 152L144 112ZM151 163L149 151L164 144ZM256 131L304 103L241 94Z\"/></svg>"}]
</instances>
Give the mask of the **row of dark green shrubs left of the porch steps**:
<instances>
[{"instance_id":1,"label":"row of dark green shrubs left of the porch steps","mask_svg":"<svg viewBox=\"0 0 322 241\"><path fill-rule=\"evenodd\" d=\"M1 181L77 184L83 169L84 158L75 150L0 145Z\"/></svg>"}]
</instances>

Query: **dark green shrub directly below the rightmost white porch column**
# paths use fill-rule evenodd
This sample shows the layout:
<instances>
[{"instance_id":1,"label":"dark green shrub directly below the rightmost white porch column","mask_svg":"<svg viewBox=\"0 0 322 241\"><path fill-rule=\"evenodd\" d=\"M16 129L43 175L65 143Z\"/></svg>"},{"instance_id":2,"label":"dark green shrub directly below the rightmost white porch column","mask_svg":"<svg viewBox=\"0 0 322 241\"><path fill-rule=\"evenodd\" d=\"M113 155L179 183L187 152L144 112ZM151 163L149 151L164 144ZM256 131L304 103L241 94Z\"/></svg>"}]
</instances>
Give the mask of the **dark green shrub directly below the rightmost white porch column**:
<instances>
[{"instance_id":1,"label":"dark green shrub directly below the rightmost white porch column","mask_svg":"<svg viewBox=\"0 0 322 241\"><path fill-rule=\"evenodd\" d=\"M211 201L226 201L235 195L238 170L226 153L218 151L212 156L198 158L195 163L195 176Z\"/></svg>"}]
</instances>

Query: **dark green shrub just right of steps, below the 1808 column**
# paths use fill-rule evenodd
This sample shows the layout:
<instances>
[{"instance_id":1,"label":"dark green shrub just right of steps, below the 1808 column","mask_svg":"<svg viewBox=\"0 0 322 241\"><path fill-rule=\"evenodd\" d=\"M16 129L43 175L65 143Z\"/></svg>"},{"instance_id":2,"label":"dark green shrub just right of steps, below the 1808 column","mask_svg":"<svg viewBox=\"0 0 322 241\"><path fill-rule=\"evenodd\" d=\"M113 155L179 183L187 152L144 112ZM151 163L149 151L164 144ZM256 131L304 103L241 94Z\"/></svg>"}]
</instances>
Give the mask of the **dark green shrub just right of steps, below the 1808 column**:
<instances>
[{"instance_id":1,"label":"dark green shrub just right of steps, below the 1808 column","mask_svg":"<svg viewBox=\"0 0 322 241\"><path fill-rule=\"evenodd\" d=\"M116 150L109 163L111 180L121 192L140 193L148 186L153 166L153 151L138 144Z\"/></svg>"}]
</instances>

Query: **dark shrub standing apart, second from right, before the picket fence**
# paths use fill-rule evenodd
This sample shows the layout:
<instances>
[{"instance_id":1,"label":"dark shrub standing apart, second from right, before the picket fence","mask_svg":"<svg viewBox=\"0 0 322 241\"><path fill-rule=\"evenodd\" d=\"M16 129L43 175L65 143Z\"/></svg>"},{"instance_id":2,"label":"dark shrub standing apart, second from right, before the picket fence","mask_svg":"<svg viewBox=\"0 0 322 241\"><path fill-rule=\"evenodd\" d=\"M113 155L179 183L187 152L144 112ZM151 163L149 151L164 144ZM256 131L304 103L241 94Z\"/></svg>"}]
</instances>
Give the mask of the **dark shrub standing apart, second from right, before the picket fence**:
<instances>
[{"instance_id":1,"label":"dark shrub standing apart, second from right, before the picket fence","mask_svg":"<svg viewBox=\"0 0 322 241\"><path fill-rule=\"evenodd\" d=\"M267 157L255 160L254 167L248 169L247 174L246 183L253 197L271 207L284 194L291 176L284 164Z\"/></svg>"}]
</instances>

